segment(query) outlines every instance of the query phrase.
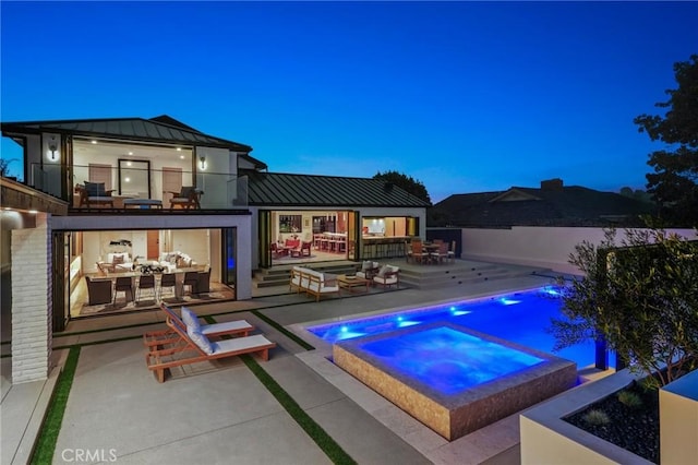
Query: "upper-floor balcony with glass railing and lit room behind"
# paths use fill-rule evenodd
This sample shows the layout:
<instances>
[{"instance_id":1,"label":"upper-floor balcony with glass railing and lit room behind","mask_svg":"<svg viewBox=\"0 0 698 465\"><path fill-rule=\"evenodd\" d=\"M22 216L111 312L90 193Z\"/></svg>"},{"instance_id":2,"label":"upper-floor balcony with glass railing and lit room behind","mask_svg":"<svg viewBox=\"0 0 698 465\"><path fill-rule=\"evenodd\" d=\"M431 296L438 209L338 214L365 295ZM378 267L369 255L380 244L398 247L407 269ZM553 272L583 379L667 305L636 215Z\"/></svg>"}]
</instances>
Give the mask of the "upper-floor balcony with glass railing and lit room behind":
<instances>
[{"instance_id":1,"label":"upper-floor balcony with glass railing and lit room behind","mask_svg":"<svg viewBox=\"0 0 698 465\"><path fill-rule=\"evenodd\" d=\"M71 181L65 182L67 179ZM86 181L104 183L106 194L98 196L111 199L81 202L80 191ZM246 176L178 168L151 169L146 163L143 166L124 164L118 168L75 165L69 169L59 165L33 165L26 184L70 202L73 213L113 213L113 210L204 213L248 207ZM179 196L182 187L194 188L197 202L171 202L172 198Z\"/></svg>"}]
</instances>

